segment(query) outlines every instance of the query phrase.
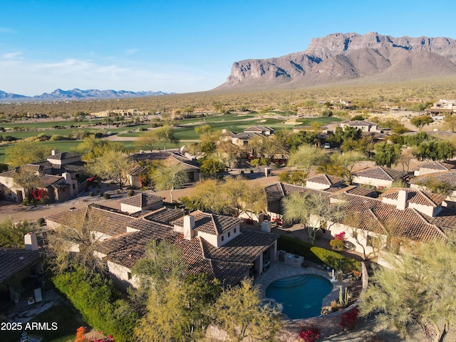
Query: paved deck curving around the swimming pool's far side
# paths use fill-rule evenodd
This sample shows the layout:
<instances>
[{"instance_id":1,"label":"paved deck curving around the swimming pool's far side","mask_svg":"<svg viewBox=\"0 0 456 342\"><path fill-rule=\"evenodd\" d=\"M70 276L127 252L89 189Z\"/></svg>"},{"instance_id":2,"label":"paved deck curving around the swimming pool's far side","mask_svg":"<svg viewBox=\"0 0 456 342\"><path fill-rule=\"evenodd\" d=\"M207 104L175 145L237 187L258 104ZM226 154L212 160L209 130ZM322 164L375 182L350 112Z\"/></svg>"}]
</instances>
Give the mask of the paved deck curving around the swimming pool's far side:
<instances>
[{"instance_id":1,"label":"paved deck curving around the swimming pool's far side","mask_svg":"<svg viewBox=\"0 0 456 342\"><path fill-rule=\"evenodd\" d=\"M288 278L289 276L299 276L301 274L317 274L318 276L323 276L324 278L331 280L331 276L328 276L328 271L326 269L318 269L317 267L301 267L301 262L303 257L295 258L292 254L286 254L285 261L272 261L269 269L263 272L261 276L257 276L254 281L254 284L257 284L261 289L261 293L264 296L266 287L271 284L272 281L282 278ZM309 263L311 264L311 263ZM317 266L317 265L315 265ZM339 286L342 286L343 289L346 286L352 286L353 281L350 279L343 279L342 281L331 281L333 284L333 290L323 299L323 306L331 306L331 301L338 301L339 298Z\"/></svg>"}]
</instances>

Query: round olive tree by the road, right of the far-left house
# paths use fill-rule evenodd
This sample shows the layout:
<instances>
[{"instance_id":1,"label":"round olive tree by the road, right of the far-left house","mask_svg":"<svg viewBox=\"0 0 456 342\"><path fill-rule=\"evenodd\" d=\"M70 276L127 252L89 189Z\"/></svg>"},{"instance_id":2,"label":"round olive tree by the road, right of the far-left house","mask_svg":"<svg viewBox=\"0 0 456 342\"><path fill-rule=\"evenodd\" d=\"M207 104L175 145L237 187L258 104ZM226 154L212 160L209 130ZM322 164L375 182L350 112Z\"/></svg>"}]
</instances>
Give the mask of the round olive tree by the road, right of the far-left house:
<instances>
[{"instance_id":1,"label":"round olive tree by the road, right of the far-left house","mask_svg":"<svg viewBox=\"0 0 456 342\"><path fill-rule=\"evenodd\" d=\"M130 156L123 152L108 150L88 165L88 170L104 180L113 180L123 189L127 182L128 172L135 164Z\"/></svg>"}]
</instances>

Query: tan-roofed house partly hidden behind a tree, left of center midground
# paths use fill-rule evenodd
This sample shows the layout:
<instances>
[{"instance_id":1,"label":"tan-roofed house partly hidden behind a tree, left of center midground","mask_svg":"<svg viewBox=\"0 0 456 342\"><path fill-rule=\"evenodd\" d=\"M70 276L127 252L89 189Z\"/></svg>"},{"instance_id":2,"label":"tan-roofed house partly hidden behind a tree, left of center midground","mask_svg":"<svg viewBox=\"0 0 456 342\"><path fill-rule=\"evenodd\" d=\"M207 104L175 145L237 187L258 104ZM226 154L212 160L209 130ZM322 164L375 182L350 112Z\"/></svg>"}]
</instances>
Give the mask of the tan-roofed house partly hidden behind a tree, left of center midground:
<instances>
[{"instance_id":1,"label":"tan-roofed house partly hidden behind a tree, left of center midground","mask_svg":"<svg viewBox=\"0 0 456 342\"><path fill-rule=\"evenodd\" d=\"M185 171L187 172L188 178L190 182L197 182L199 181L199 167L195 160L191 160L185 155L182 155L177 152L140 152L132 155L132 158L135 162L146 162L146 161L154 161L160 160L163 165L176 165L180 164L184 167ZM128 174L128 180L132 187L142 187L142 179L141 176L147 172L147 168L145 166L141 166L139 163Z\"/></svg>"}]
</instances>

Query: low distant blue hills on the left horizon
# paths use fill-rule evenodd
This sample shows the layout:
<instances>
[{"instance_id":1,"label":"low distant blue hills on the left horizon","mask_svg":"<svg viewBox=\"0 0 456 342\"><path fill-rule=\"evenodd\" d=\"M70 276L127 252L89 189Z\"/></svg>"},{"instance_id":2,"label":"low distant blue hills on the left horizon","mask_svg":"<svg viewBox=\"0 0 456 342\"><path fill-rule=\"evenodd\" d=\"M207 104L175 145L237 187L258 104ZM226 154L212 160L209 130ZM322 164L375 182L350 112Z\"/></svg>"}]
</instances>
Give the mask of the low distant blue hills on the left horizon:
<instances>
[{"instance_id":1,"label":"low distant blue hills on the left horizon","mask_svg":"<svg viewBox=\"0 0 456 342\"><path fill-rule=\"evenodd\" d=\"M0 101L16 100L83 100L83 99L106 99L106 98L140 98L144 96L168 95L162 91L139 91L135 93L127 90L81 90L74 88L72 90L56 89L52 93L43 93L36 96L25 96L12 93L5 93L0 90Z\"/></svg>"}]
</instances>

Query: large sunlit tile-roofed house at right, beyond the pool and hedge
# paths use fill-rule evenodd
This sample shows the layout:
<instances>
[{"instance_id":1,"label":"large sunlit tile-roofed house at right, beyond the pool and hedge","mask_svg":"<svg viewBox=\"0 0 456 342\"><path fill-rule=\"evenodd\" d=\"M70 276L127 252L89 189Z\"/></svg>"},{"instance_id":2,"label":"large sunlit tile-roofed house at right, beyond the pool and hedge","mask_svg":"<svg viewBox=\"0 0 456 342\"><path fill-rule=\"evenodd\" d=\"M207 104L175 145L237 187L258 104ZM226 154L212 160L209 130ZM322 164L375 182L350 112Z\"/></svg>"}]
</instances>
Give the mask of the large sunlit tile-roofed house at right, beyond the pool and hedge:
<instances>
[{"instance_id":1,"label":"large sunlit tile-roofed house at right, beyond the pool and hedge","mask_svg":"<svg viewBox=\"0 0 456 342\"><path fill-rule=\"evenodd\" d=\"M456 210L445 207L445 196L420 190L395 188L375 199L277 182L265 187L265 192L271 217L286 219L281 201L294 192L310 192L322 196L328 206L338 205L343 216L336 222L326 222L321 237L333 239L345 232L346 241L356 252L385 266L385 252L398 252L408 243L445 237L456 222Z\"/></svg>"}]
</instances>

